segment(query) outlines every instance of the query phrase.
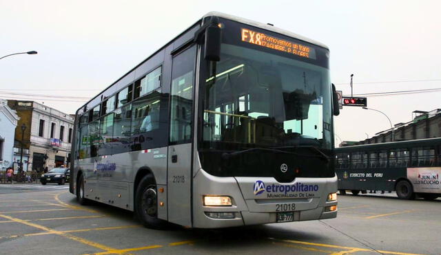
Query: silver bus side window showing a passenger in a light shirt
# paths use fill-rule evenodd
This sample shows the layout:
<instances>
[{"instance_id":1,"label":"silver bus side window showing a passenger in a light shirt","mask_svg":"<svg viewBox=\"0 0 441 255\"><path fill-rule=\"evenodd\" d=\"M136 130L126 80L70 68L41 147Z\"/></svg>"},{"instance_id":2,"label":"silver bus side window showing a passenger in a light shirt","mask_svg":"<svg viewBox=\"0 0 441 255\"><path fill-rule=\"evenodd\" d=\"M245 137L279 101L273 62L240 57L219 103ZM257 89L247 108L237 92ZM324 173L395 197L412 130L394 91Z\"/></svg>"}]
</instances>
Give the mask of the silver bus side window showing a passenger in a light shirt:
<instances>
[{"instance_id":1,"label":"silver bus side window showing a passenger in a light shirt","mask_svg":"<svg viewBox=\"0 0 441 255\"><path fill-rule=\"evenodd\" d=\"M154 148L159 129L160 94L153 92L132 103L132 151Z\"/></svg>"}]
</instances>

